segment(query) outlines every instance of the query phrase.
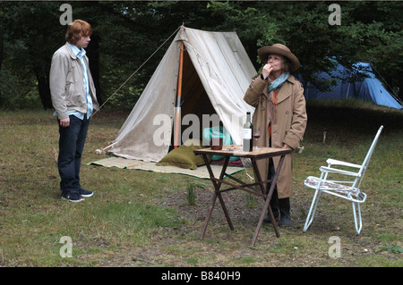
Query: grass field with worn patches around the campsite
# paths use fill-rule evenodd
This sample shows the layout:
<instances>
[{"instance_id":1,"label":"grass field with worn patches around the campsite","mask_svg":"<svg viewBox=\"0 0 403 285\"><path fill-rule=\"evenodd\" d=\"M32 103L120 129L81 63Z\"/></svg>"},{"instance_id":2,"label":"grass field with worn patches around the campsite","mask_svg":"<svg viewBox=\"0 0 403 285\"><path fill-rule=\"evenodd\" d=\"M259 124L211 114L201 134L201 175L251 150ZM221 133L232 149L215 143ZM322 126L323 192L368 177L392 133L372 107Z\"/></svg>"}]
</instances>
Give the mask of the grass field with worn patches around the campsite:
<instances>
[{"instance_id":1,"label":"grass field with worn patches around the campsite","mask_svg":"<svg viewBox=\"0 0 403 285\"><path fill-rule=\"evenodd\" d=\"M127 115L103 110L92 119L81 180L95 195L73 204L60 199L52 112L0 112L0 266L403 265L402 112L308 105L304 152L296 155L294 169L292 225L280 228L278 239L264 224L255 247L251 240L261 200L240 191L227 193L235 231L217 204L200 240L213 191L210 180L87 164L107 157L95 150L116 138ZM356 236L351 205L333 197L322 198L313 225L303 233L313 197L304 178L317 175L328 157L361 163L381 124L384 130L362 187L368 198L361 235ZM245 178L245 172L236 175ZM331 237L339 238L337 258L329 254Z\"/></svg>"}]
</instances>

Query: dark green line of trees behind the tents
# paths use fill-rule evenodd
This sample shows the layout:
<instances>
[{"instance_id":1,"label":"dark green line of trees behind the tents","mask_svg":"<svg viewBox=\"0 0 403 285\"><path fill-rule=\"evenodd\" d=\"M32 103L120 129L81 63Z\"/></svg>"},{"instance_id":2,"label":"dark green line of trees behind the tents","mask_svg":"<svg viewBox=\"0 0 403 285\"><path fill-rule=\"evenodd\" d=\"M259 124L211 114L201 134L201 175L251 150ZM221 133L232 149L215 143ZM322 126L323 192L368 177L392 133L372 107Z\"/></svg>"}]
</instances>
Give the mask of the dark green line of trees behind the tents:
<instances>
[{"instance_id":1,"label":"dark green line of trees behind the tents","mask_svg":"<svg viewBox=\"0 0 403 285\"><path fill-rule=\"evenodd\" d=\"M337 63L372 63L396 93L403 87L403 3L395 1L122 1L66 2L74 19L93 28L87 54L102 103L181 25L236 31L256 70L257 49L282 43L299 58L298 71L320 88L318 71ZM52 54L64 45L62 2L0 1L0 108L52 108ZM332 6L334 7L334 6ZM167 50L158 53L110 98L132 108Z\"/></svg>"}]
</instances>

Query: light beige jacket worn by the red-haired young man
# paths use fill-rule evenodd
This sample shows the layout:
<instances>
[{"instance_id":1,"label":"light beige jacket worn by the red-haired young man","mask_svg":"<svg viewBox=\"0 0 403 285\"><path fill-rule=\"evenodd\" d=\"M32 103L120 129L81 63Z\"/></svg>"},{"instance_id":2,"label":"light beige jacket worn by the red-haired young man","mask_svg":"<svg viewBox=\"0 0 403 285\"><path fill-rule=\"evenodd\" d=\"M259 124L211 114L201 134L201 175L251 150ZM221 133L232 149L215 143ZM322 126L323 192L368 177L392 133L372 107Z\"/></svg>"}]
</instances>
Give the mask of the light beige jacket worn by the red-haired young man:
<instances>
[{"instance_id":1,"label":"light beige jacket worn by the red-haired young man","mask_svg":"<svg viewBox=\"0 0 403 285\"><path fill-rule=\"evenodd\" d=\"M87 66L93 108L99 110L87 56L84 56L84 63ZM75 56L70 44L65 43L53 54L49 75L52 105L59 119L67 118L68 112L73 110L87 113L87 95L83 77L80 59Z\"/></svg>"}]
</instances>

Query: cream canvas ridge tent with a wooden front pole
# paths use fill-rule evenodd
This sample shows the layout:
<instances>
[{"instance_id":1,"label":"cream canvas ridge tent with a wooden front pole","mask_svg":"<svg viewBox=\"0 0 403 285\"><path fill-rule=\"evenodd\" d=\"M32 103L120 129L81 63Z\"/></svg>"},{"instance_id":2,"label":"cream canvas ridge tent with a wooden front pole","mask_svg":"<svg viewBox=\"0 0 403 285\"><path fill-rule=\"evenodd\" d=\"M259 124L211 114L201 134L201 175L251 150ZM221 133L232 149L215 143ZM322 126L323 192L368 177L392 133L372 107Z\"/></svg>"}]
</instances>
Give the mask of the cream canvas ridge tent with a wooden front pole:
<instances>
[{"instance_id":1,"label":"cream canvas ridge tent with a wooden front pole","mask_svg":"<svg viewBox=\"0 0 403 285\"><path fill-rule=\"evenodd\" d=\"M202 114L216 113L234 144L242 145L246 112L253 112L244 102L244 92L256 73L236 32L180 27L110 152L159 162L170 146L184 143L181 134L190 123L184 126L181 119L189 113L200 118L200 125ZM168 127L163 128L167 118ZM178 124L181 131L176 133ZM202 130L193 132L193 138L198 133L201 138Z\"/></svg>"}]
</instances>

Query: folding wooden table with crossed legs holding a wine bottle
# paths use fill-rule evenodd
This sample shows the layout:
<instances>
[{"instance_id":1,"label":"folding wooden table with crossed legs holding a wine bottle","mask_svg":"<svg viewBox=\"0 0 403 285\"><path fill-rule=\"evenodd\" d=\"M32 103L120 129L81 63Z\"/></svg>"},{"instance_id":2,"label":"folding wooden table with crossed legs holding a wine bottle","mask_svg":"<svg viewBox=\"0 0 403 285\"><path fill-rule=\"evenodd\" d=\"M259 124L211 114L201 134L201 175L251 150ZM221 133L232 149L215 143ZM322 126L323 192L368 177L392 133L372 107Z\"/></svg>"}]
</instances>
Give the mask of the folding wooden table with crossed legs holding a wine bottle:
<instances>
[{"instance_id":1,"label":"folding wooden table with crossed legs holding a wine bottle","mask_svg":"<svg viewBox=\"0 0 403 285\"><path fill-rule=\"evenodd\" d=\"M221 193L230 191L230 190L240 189L240 190L244 190L248 193L252 193L255 196L262 197L266 201L262 208L262 214L261 214L259 222L256 226L256 230L254 231L254 236L253 236L253 240L252 240L252 246L254 247L256 239L259 235L259 231L261 230L263 218L264 218L264 215L266 214L266 212L269 212L271 224L273 225L274 231L276 232L276 235L279 238L279 228L278 228L277 222L273 216L273 212L271 211L270 199L273 194L273 190L276 185L276 182L279 178L279 172L281 171L281 166L284 161L284 157L285 157L285 155L289 154L291 152L291 150L285 149L285 148L261 147L259 149L253 149L252 152L244 152L242 149L237 149L240 146L236 146L237 148L233 148L233 147L234 146L223 146L222 150L212 150L210 147L194 150L195 155L202 155L204 162L206 163L207 169L209 171L209 174L210 174L210 180L214 185L214 195L211 200L209 212L204 220L204 226L201 231L200 239L204 239L204 234L206 233L207 225L209 223L210 216L211 216L211 213L212 213L212 210L214 208L217 198L219 198L219 203L221 204L224 214L227 218L229 228L232 231L234 231L234 226L232 225L231 219L229 218L227 207L224 203L223 198L221 197ZM225 162L222 166L222 170L219 175L219 178L216 178L214 176L214 173L211 171L208 155L224 155L225 156ZM227 174L227 172L226 172L227 165L229 162L229 157L231 157L231 156L250 158L251 162L252 162L254 177L257 181L255 181L254 183L244 183L244 181L237 179L233 175ZM259 159L265 159L265 158L270 158L270 157L274 157L274 156L280 156L279 166L274 174L273 180L271 181L269 193L266 194L264 183L267 183L270 180L267 180L267 178L264 178L264 180L262 180L262 176L261 176L261 173L259 172L256 161ZM224 180L224 178L227 178L227 180ZM237 184L232 181L230 182L228 179L236 181ZM227 189L221 189L222 184L226 184L230 187ZM255 186L259 186L260 189L256 189Z\"/></svg>"}]
</instances>

